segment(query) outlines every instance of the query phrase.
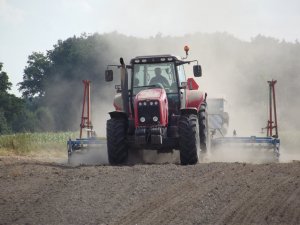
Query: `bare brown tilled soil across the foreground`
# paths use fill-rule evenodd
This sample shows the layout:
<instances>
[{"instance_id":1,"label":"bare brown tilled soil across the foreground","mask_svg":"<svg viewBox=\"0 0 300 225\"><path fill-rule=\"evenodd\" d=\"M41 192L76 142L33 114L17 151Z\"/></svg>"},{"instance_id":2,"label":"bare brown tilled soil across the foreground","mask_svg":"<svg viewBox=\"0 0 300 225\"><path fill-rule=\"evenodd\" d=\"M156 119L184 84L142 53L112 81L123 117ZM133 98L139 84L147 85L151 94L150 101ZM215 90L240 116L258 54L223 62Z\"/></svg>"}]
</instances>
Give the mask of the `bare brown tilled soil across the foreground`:
<instances>
[{"instance_id":1,"label":"bare brown tilled soil across the foreground","mask_svg":"<svg viewBox=\"0 0 300 225\"><path fill-rule=\"evenodd\" d=\"M1 157L0 224L300 224L300 162L72 167Z\"/></svg>"}]
</instances>

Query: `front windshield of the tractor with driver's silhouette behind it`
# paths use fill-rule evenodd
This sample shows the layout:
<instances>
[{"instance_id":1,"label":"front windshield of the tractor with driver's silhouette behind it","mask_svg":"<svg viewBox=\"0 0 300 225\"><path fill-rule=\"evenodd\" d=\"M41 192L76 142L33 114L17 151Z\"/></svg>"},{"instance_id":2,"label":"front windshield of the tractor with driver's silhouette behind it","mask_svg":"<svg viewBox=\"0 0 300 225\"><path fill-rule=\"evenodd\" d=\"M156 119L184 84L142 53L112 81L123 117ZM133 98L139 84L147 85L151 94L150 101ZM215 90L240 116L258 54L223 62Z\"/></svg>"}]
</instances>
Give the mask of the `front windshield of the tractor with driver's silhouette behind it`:
<instances>
[{"instance_id":1,"label":"front windshield of the tractor with driver's silhouette behind it","mask_svg":"<svg viewBox=\"0 0 300 225\"><path fill-rule=\"evenodd\" d=\"M133 65L133 94L153 87L164 88L166 93L178 92L174 63Z\"/></svg>"}]
</instances>

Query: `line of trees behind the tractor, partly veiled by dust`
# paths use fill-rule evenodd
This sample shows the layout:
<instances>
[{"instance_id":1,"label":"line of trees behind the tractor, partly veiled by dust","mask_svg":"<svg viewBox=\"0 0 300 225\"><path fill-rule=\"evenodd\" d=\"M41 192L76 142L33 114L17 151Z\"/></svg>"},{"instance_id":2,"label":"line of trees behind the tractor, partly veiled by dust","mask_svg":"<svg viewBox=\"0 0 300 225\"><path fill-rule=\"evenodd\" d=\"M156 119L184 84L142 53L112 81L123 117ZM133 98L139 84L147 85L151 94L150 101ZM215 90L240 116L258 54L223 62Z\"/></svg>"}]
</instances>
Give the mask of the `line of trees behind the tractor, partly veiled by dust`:
<instances>
[{"instance_id":1,"label":"line of trees behind the tractor, partly veiled by dust","mask_svg":"<svg viewBox=\"0 0 300 225\"><path fill-rule=\"evenodd\" d=\"M200 88L229 93L229 98L239 95L235 101L241 107L260 107L267 99L257 90L265 89L268 76L278 79L282 87L278 90L279 101L282 108L289 108L279 113L300 127L298 120L292 121L296 116L291 113L300 105L299 98L292 100L300 92L298 41L291 43L261 35L241 41L227 33L136 38L114 32L73 36L58 40L45 53L33 52L28 56L23 81L18 84L21 98L9 94L12 84L1 63L0 134L77 130L82 80L92 81L94 102L112 104L114 86L104 81L107 64L117 64L120 57L128 63L137 55L183 55L182 48L187 43L191 57L199 60L206 76L206 86L199 80Z\"/></svg>"}]
</instances>

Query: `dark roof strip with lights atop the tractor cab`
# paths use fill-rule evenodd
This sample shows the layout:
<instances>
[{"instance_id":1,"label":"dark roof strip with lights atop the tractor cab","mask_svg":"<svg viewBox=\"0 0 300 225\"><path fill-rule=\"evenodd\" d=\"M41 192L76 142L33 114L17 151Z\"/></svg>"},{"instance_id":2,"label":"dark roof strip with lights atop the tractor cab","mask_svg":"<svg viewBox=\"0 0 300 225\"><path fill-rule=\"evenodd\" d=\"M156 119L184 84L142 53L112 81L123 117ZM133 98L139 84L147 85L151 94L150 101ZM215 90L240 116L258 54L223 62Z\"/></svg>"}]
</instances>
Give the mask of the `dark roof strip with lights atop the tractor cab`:
<instances>
[{"instance_id":1,"label":"dark roof strip with lights atop the tractor cab","mask_svg":"<svg viewBox=\"0 0 300 225\"><path fill-rule=\"evenodd\" d=\"M145 63L164 63L164 62L183 62L179 57L174 55L147 55L137 56L130 60L130 64L145 64Z\"/></svg>"}]
</instances>

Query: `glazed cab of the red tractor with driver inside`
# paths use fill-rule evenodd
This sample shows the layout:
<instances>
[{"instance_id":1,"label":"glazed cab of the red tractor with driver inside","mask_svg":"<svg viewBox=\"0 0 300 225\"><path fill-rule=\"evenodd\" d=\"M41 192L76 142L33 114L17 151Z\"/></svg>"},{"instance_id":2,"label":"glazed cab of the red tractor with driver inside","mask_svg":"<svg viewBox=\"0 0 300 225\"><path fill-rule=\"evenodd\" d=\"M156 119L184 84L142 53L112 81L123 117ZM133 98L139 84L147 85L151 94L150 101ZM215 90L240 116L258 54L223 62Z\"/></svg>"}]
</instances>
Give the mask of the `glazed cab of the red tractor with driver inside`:
<instances>
[{"instance_id":1,"label":"glazed cab of the red tractor with driver inside","mask_svg":"<svg viewBox=\"0 0 300 225\"><path fill-rule=\"evenodd\" d=\"M182 61L171 55L140 56L131 60L131 90L136 96L146 89L164 89L169 114L179 114L180 89L185 85L186 75ZM134 98L133 98L134 99Z\"/></svg>"}]
</instances>

